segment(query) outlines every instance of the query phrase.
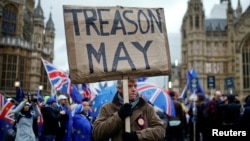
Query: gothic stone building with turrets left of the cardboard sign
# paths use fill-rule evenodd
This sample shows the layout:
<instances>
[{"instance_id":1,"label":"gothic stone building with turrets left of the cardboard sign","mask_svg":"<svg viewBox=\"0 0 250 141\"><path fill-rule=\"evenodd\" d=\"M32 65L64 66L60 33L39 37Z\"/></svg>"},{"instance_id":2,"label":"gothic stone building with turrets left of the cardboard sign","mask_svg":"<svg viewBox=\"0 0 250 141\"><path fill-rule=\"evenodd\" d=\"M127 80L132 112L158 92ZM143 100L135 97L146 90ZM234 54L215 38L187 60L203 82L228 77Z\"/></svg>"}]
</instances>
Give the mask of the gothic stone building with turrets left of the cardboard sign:
<instances>
[{"instance_id":1,"label":"gothic stone building with turrets left of the cardboard sign","mask_svg":"<svg viewBox=\"0 0 250 141\"><path fill-rule=\"evenodd\" d=\"M41 58L53 62L55 28L50 13L44 22L38 0L0 1L0 91L15 94L18 79L24 92L51 86Z\"/></svg>"}]
</instances>

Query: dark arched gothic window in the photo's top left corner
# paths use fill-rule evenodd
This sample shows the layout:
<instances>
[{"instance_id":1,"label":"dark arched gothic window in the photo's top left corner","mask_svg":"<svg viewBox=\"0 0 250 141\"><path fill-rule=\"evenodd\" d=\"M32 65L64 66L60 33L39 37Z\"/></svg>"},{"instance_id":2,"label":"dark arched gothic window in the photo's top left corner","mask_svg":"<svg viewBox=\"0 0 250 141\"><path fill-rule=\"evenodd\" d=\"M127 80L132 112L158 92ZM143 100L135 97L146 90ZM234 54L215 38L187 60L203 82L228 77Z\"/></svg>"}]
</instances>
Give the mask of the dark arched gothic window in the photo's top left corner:
<instances>
[{"instance_id":1,"label":"dark arched gothic window in the photo's top left corner","mask_svg":"<svg viewBox=\"0 0 250 141\"><path fill-rule=\"evenodd\" d=\"M8 4L3 8L2 36L15 36L17 12L17 8L12 4Z\"/></svg>"}]
</instances>

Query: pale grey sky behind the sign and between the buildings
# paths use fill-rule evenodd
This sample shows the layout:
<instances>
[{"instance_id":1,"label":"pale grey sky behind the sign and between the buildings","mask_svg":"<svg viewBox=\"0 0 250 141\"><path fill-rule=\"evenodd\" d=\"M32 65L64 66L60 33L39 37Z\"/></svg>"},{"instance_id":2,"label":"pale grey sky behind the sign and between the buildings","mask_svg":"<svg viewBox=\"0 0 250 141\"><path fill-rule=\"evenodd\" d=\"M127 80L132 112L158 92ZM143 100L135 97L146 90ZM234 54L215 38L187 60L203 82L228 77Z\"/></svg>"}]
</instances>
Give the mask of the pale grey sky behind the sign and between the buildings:
<instances>
[{"instance_id":1,"label":"pale grey sky behind the sign and between the buildings","mask_svg":"<svg viewBox=\"0 0 250 141\"><path fill-rule=\"evenodd\" d=\"M41 6L44 11L45 22L47 22L49 13L52 12L52 19L55 24L55 58L53 64L61 69L68 70L68 58L66 52L66 38L63 21L63 5L81 5L81 6L128 6L128 7L162 7L165 12L168 40L170 45L171 62L180 60L180 27L182 18L187 9L189 0L41 0ZM235 9L238 0L232 0L232 6ZM206 17L209 17L210 11L220 0L203 0L203 7ZM243 11L249 6L249 0L241 0ZM37 3L36 3L37 5Z\"/></svg>"}]
</instances>

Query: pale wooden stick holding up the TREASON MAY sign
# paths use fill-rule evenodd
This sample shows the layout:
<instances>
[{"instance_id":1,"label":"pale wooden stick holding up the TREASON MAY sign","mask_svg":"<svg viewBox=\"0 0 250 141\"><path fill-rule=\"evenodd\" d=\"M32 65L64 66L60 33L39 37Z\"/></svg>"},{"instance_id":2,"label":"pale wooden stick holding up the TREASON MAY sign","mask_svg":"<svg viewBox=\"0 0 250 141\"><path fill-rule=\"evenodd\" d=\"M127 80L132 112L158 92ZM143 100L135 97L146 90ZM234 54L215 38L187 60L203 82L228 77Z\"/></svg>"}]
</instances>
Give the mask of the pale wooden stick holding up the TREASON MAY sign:
<instances>
[{"instance_id":1,"label":"pale wooden stick holding up the TREASON MAY sign","mask_svg":"<svg viewBox=\"0 0 250 141\"><path fill-rule=\"evenodd\" d=\"M123 79L123 102L129 103L128 79ZM130 117L125 118L125 132L130 132Z\"/></svg>"}]
</instances>

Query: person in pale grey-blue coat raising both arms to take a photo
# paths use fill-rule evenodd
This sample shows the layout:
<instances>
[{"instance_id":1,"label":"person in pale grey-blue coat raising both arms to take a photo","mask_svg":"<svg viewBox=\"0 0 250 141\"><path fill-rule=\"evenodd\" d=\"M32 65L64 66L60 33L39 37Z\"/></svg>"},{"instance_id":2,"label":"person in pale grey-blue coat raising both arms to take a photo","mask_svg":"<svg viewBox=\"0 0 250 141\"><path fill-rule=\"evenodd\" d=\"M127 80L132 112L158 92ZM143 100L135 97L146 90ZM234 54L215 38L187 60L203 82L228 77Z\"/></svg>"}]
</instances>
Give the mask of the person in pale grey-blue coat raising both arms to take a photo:
<instances>
[{"instance_id":1,"label":"person in pale grey-blue coat raising both arms to take a photo","mask_svg":"<svg viewBox=\"0 0 250 141\"><path fill-rule=\"evenodd\" d=\"M33 110L31 110L31 107ZM15 115L15 119L18 119L15 141L35 141L33 122L34 118L41 114L37 104L22 101L12 112Z\"/></svg>"}]
</instances>

